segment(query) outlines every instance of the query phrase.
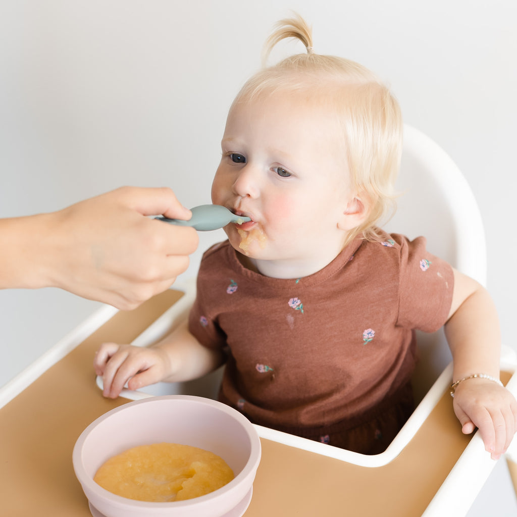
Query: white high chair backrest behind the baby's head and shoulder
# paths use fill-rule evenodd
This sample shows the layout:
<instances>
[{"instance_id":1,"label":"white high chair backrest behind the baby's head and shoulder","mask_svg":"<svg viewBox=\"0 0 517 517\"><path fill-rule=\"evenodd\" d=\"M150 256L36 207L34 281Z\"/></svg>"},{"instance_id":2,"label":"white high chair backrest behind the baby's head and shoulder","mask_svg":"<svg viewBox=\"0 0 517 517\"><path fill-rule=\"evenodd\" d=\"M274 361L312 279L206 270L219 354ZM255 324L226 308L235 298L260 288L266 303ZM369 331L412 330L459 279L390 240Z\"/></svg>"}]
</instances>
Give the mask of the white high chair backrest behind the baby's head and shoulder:
<instances>
[{"instance_id":1,"label":"white high chair backrest behind the baby's head and shoulder","mask_svg":"<svg viewBox=\"0 0 517 517\"><path fill-rule=\"evenodd\" d=\"M385 229L413 239L423 235L428 250L486 284L486 245L474 194L458 166L428 136L404 126L404 145L394 217ZM417 402L451 360L443 330L418 333Z\"/></svg>"}]
</instances>

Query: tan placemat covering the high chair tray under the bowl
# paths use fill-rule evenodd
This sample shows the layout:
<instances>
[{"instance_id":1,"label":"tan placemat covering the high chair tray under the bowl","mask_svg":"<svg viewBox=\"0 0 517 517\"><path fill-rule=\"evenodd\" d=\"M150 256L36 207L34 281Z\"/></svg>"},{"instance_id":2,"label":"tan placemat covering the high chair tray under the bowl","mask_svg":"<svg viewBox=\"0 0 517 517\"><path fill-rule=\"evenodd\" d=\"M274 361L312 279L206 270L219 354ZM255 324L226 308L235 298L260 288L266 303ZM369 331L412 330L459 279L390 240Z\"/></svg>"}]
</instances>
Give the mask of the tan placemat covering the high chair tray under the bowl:
<instances>
[{"instance_id":1,"label":"tan placemat covering the high chair tray under the bowl","mask_svg":"<svg viewBox=\"0 0 517 517\"><path fill-rule=\"evenodd\" d=\"M94 382L94 353L103 341L132 341L180 297L167 291L134 311L118 312L0 409L2 515L89 517L72 449L90 422L127 402L102 397ZM263 439L245 515L415 517L468 441L447 393L400 456L383 467L358 467Z\"/></svg>"}]
</instances>

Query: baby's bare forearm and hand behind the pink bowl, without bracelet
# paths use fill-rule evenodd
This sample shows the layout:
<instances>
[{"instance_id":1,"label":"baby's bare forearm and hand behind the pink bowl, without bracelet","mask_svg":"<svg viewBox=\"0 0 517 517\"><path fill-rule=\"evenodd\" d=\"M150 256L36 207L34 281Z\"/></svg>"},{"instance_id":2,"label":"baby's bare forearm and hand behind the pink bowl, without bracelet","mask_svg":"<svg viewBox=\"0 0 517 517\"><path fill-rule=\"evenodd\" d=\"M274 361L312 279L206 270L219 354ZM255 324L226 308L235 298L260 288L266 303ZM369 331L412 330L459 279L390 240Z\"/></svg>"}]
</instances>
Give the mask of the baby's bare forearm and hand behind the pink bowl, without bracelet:
<instances>
[{"instance_id":1,"label":"baby's bare forearm and hand behind the pink bowl, without bracelet","mask_svg":"<svg viewBox=\"0 0 517 517\"><path fill-rule=\"evenodd\" d=\"M138 389L161 381L190 381L215 370L222 361L222 353L201 345L185 321L151 347L103 343L94 368L102 375L104 397L114 399L126 382L129 389Z\"/></svg>"}]
</instances>

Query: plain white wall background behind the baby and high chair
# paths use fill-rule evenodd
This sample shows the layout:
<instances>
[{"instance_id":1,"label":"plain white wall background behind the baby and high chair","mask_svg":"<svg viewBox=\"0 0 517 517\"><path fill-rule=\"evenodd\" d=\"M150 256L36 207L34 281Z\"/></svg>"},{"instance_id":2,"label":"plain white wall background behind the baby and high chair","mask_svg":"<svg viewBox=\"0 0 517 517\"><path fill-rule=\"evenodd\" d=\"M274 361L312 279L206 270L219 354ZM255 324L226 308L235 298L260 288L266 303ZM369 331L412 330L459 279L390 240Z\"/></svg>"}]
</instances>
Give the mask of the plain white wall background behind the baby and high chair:
<instances>
[{"instance_id":1,"label":"plain white wall background behind the baby and high chair","mask_svg":"<svg viewBox=\"0 0 517 517\"><path fill-rule=\"evenodd\" d=\"M120 185L209 202L227 109L290 9L313 25L316 52L376 71L406 122L460 166L485 224L503 341L517 348L515 0L1 0L0 217ZM201 237L188 276L223 234ZM0 291L0 385L96 307L53 289ZM496 467L469 515L492 514L499 496L498 514L515 514L505 474Z\"/></svg>"}]
</instances>

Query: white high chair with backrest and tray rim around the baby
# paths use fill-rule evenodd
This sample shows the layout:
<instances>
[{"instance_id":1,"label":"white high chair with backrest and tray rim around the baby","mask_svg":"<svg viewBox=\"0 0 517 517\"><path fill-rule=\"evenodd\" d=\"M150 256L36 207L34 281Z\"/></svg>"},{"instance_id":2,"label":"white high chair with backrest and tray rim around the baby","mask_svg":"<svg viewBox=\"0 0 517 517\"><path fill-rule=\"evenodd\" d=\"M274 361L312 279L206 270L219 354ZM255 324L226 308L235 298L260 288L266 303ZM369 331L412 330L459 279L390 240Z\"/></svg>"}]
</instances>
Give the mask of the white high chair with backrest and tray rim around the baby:
<instances>
[{"instance_id":1,"label":"white high chair with backrest and tray rim around the baby","mask_svg":"<svg viewBox=\"0 0 517 517\"><path fill-rule=\"evenodd\" d=\"M472 191L457 166L444 151L427 136L409 126L405 127L398 189L405 195L400 197L397 214L386 228L403 233L410 238L425 235L428 239L429 251L445 258L457 269L485 284L485 240L479 209ZM194 285L193 281L183 287L175 285L176 289L185 291L185 295L141 333L133 344L146 346L153 343L181 321L186 316L195 296ZM14 383L0 390L0 407L21 391L30 382L31 376L36 378L39 371L49 368L52 363L63 357L113 316L114 312L109 307L101 309L77 331L69 334L51 349L28 374L23 378L15 379ZM420 361L414 376L414 386L419 405L399 435L382 454L364 456L263 427L257 427L259 434L274 442L363 467L382 467L392 462L430 415L451 382L451 355L443 331L434 334L420 333L418 338ZM517 375L515 375L517 360L510 348L504 348L501 368L511 374L507 388L514 395L517 394ZM219 369L203 379L189 383L159 384L140 391L124 390L123 396L129 399L140 399L154 394L184 393L215 398L221 371ZM97 379L97 382L100 385L100 379ZM461 433L459 424L457 431ZM439 440L439 436L436 439ZM517 445L512 444L511 449L516 448ZM509 450L508 455L511 452ZM479 433L475 434L423 515L425 517L465 515L495 463L485 452ZM513 465L511 461L509 465ZM510 469L512 470L512 467Z\"/></svg>"}]
</instances>

